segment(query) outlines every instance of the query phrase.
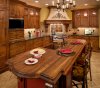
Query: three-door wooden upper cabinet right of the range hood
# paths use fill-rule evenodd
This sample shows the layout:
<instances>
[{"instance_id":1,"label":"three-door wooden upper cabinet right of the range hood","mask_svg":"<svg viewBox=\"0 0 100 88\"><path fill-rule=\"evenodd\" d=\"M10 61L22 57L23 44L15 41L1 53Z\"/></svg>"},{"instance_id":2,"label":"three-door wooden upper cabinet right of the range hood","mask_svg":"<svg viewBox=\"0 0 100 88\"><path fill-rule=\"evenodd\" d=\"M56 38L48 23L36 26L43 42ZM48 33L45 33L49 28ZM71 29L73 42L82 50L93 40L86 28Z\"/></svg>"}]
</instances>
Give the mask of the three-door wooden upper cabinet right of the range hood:
<instances>
[{"instance_id":1,"label":"three-door wooden upper cabinet right of the range hood","mask_svg":"<svg viewBox=\"0 0 100 88\"><path fill-rule=\"evenodd\" d=\"M73 27L98 27L97 9L73 11Z\"/></svg>"}]
</instances>

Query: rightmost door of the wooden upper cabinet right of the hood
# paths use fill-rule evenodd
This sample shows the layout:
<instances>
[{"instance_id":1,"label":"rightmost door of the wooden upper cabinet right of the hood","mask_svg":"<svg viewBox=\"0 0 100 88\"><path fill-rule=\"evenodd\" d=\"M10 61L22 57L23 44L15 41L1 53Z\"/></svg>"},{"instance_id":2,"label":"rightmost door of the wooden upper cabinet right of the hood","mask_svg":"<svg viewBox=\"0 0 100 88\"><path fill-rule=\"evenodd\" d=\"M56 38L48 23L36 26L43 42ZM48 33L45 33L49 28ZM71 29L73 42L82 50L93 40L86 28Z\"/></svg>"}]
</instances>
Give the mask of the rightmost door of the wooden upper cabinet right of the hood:
<instances>
[{"instance_id":1,"label":"rightmost door of the wooden upper cabinet right of the hood","mask_svg":"<svg viewBox=\"0 0 100 88\"><path fill-rule=\"evenodd\" d=\"M89 26L98 27L98 15L96 9L89 10Z\"/></svg>"}]
</instances>

